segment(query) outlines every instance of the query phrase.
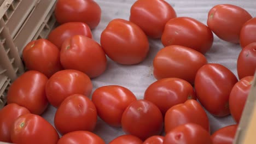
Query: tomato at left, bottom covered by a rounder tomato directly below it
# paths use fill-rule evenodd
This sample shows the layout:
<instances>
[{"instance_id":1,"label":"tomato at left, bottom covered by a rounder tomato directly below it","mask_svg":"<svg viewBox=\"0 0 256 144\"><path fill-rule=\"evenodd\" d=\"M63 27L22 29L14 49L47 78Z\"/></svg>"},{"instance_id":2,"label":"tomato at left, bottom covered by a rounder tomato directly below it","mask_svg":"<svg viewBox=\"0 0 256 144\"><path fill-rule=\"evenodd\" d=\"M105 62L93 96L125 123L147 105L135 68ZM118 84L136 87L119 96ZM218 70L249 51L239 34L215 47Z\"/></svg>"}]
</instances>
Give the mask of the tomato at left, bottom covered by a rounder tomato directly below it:
<instances>
[{"instance_id":1,"label":"tomato at left, bottom covered by a rounder tomato directly below it","mask_svg":"<svg viewBox=\"0 0 256 144\"><path fill-rule=\"evenodd\" d=\"M51 105L58 107L72 94L90 96L92 83L90 78L78 70L61 70L50 77L45 92Z\"/></svg>"}]
</instances>

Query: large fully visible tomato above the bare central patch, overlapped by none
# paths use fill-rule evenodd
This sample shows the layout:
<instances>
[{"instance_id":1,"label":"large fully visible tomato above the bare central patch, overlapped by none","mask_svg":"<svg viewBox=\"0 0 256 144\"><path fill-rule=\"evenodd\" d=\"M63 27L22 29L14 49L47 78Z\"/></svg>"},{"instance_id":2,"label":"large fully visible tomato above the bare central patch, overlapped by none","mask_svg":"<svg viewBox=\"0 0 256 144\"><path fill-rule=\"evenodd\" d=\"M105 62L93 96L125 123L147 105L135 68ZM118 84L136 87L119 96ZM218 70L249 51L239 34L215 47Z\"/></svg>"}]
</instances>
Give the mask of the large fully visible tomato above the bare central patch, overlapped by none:
<instances>
[{"instance_id":1,"label":"large fully visible tomato above the bare central patch, overlapped by none","mask_svg":"<svg viewBox=\"0 0 256 144\"><path fill-rule=\"evenodd\" d=\"M114 19L101 33L101 46L110 59L120 64L142 62L149 51L147 35L133 22Z\"/></svg>"}]
</instances>

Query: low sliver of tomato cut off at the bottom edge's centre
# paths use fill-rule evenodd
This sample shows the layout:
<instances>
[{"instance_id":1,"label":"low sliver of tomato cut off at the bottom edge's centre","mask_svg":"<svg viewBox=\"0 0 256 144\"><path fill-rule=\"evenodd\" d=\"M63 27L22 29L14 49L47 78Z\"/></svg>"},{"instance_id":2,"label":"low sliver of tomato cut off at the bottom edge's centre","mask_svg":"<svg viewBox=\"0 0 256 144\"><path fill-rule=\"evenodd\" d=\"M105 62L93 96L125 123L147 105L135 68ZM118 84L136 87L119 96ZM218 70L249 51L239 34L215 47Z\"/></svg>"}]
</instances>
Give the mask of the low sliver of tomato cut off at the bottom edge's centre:
<instances>
[{"instance_id":1,"label":"low sliver of tomato cut off at the bottom edge's centre","mask_svg":"<svg viewBox=\"0 0 256 144\"><path fill-rule=\"evenodd\" d=\"M133 135L121 135L110 141L109 144L142 144L143 141L136 136Z\"/></svg>"}]
</instances>

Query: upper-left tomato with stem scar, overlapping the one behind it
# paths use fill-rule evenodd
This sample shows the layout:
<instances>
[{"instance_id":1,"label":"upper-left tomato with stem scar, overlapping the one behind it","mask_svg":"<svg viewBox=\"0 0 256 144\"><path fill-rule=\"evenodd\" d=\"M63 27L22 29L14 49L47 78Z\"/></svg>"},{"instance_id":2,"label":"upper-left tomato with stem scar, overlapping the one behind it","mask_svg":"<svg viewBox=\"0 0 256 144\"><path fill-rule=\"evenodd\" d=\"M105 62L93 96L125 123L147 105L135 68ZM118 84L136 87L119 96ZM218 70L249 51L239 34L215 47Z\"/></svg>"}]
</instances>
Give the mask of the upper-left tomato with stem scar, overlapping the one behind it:
<instances>
[{"instance_id":1,"label":"upper-left tomato with stem scar, overlapping the one behind it","mask_svg":"<svg viewBox=\"0 0 256 144\"><path fill-rule=\"evenodd\" d=\"M74 35L63 42L60 61L65 69L80 70L91 78L100 76L107 67L101 46L84 35Z\"/></svg>"}]
</instances>

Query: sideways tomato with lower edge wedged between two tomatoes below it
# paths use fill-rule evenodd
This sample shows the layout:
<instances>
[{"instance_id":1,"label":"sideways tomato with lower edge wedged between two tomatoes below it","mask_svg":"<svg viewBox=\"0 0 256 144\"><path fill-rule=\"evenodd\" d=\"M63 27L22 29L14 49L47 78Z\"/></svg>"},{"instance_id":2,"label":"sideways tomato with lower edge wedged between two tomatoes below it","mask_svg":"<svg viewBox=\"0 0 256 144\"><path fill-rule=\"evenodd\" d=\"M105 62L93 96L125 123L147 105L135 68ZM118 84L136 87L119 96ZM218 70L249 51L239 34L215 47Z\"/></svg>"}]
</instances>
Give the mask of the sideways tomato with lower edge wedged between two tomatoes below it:
<instances>
[{"instance_id":1,"label":"sideways tomato with lower edge wedged between two tomatoes below it","mask_svg":"<svg viewBox=\"0 0 256 144\"><path fill-rule=\"evenodd\" d=\"M194 89L185 80L165 78L152 83L144 93L144 99L154 103L164 116L172 106L196 99Z\"/></svg>"}]
</instances>

